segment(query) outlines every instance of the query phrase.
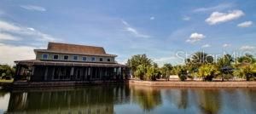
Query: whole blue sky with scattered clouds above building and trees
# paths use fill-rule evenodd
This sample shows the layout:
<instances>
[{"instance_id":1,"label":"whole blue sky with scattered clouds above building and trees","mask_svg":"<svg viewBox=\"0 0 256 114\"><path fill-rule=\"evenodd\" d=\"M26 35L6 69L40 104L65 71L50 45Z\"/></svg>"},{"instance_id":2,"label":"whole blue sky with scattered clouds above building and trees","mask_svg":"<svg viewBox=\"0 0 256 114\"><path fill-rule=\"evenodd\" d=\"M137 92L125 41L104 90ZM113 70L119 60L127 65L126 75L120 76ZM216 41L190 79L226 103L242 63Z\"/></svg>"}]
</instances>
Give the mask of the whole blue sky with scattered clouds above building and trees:
<instances>
[{"instance_id":1,"label":"whole blue sky with scattered clouds above building and trees","mask_svg":"<svg viewBox=\"0 0 256 114\"><path fill-rule=\"evenodd\" d=\"M125 63L147 54L162 66L185 54L252 52L255 0L1 0L0 64L35 59L48 42L102 46Z\"/></svg>"}]
</instances>

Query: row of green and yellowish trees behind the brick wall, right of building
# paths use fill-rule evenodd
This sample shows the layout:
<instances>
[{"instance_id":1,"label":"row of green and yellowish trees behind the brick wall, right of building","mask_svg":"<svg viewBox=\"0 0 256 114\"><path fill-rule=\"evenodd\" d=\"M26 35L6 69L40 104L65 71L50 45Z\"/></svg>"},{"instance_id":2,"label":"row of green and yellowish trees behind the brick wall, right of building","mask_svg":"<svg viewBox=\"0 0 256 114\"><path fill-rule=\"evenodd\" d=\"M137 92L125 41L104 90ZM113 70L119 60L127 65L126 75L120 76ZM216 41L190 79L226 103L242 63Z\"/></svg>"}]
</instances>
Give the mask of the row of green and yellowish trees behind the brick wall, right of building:
<instances>
[{"instance_id":1,"label":"row of green and yellowish trees behind the brick wall, right of building","mask_svg":"<svg viewBox=\"0 0 256 114\"><path fill-rule=\"evenodd\" d=\"M230 54L224 54L214 60L210 54L196 52L184 61L184 65L172 66L167 63L158 67L146 54L137 54L131 56L131 59L127 61L127 66L131 68L132 76L140 80L151 81L158 78L169 80L170 75L177 75L181 81L187 78L201 78L203 81L219 78L224 81L234 77L250 81L254 80L256 74L256 60L252 54L245 54L236 59Z\"/></svg>"}]
</instances>

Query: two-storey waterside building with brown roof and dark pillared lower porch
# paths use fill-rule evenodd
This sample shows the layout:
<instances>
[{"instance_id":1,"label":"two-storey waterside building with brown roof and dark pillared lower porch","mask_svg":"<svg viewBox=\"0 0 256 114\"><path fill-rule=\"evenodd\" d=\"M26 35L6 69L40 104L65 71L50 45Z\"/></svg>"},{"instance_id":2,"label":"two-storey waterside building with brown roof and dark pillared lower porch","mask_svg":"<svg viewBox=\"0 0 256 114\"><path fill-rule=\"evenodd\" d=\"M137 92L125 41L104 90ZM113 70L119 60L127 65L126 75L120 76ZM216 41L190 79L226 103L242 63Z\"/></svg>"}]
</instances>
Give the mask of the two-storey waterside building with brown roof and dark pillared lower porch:
<instances>
[{"instance_id":1,"label":"two-storey waterside building with brown roof and dark pillared lower porch","mask_svg":"<svg viewBox=\"0 0 256 114\"><path fill-rule=\"evenodd\" d=\"M49 43L47 49L34 49L35 60L17 60L15 81L121 81L128 69L118 64L115 54L102 47Z\"/></svg>"}]
</instances>

